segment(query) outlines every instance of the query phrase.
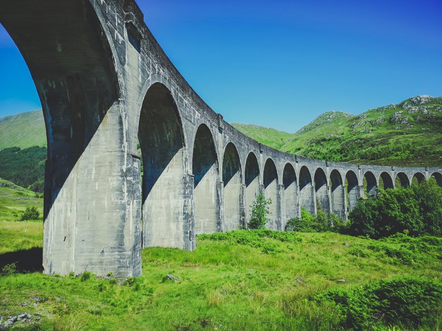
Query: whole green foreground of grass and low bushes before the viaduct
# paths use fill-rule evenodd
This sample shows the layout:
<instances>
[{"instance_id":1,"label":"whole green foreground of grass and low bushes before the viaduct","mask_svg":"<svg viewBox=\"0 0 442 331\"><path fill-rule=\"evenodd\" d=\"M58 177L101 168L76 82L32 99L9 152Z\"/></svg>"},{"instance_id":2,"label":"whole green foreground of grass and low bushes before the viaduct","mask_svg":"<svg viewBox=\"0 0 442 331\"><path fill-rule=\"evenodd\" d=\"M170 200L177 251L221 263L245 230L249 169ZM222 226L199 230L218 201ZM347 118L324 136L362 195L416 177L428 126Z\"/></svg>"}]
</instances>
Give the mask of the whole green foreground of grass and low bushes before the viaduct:
<instances>
[{"instance_id":1,"label":"whole green foreground of grass and low bushes before the viaduct","mask_svg":"<svg viewBox=\"0 0 442 331\"><path fill-rule=\"evenodd\" d=\"M119 281L27 272L41 228L0 221L1 323L30 316L11 330L442 330L441 238L204 234L144 249L143 276Z\"/></svg>"}]
</instances>

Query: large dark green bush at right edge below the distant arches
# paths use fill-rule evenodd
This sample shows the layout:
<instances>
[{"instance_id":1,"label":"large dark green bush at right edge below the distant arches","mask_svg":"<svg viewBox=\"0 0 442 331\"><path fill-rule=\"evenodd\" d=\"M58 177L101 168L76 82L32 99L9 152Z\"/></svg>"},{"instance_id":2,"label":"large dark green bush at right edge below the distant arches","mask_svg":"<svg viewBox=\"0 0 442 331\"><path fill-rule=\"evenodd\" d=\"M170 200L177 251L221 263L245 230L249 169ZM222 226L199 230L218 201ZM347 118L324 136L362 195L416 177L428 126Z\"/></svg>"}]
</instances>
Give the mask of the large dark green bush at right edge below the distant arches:
<instances>
[{"instance_id":1,"label":"large dark green bush at right edge below the distant arches","mask_svg":"<svg viewBox=\"0 0 442 331\"><path fill-rule=\"evenodd\" d=\"M442 237L442 188L430 179L411 188L378 190L350 212L348 232L374 239L398 232Z\"/></svg>"}]
</instances>

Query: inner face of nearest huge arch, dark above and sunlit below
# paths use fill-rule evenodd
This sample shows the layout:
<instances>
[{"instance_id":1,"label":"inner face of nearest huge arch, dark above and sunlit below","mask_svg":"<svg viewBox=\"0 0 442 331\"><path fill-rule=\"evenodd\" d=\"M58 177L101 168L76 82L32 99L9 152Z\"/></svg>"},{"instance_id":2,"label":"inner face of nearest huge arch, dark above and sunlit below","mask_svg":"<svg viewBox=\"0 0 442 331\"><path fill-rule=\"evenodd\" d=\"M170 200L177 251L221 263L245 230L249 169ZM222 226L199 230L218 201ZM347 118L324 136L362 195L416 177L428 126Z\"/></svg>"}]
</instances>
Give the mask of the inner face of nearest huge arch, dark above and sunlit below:
<instances>
[{"instance_id":1,"label":"inner face of nearest huge arch, dark above and sunlit below","mask_svg":"<svg viewBox=\"0 0 442 331\"><path fill-rule=\"evenodd\" d=\"M44 113L45 273L87 267L98 275L140 276L140 219L128 212L129 201L140 200L139 183L124 173L139 161L125 159L118 57L94 6L1 1L0 21L26 61Z\"/></svg>"}]
</instances>

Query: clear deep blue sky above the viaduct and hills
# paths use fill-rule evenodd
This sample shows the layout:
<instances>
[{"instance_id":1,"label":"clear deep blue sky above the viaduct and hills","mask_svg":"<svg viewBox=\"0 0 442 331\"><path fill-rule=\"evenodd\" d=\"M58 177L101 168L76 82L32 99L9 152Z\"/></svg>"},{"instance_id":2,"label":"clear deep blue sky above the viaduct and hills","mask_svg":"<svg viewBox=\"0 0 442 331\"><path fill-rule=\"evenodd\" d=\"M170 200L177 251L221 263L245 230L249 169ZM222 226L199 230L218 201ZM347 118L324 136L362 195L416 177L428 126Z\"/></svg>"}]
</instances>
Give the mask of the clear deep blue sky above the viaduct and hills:
<instances>
[{"instance_id":1,"label":"clear deep blue sky above the viaduct and hills","mask_svg":"<svg viewBox=\"0 0 442 331\"><path fill-rule=\"evenodd\" d=\"M137 3L177 69L229 122L295 132L329 110L442 96L441 0ZM0 117L39 108L0 26Z\"/></svg>"}]
</instances>

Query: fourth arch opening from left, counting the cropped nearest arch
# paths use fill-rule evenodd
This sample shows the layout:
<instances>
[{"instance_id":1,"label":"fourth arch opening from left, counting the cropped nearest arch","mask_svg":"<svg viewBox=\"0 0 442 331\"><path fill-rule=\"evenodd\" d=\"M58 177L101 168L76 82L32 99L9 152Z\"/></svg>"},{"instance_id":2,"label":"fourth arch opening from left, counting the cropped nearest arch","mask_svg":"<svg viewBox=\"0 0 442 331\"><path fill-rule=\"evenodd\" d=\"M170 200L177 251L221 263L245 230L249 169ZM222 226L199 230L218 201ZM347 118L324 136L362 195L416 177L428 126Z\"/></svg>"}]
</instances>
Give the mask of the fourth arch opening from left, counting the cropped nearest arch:
<instances>
[{"instance_id":1,"label":"fourth arch opening from left, counting the cropped nearest arch","mask_svg":"<svg viewBox=\"0 0 442 331\"><path fill-rule=\"evenodd\" d=\"M238 150L228 143L222 159L222 181L224 182L224 221L225 230L242 228L241 165Z\"/></svg>"}]
</instances>

